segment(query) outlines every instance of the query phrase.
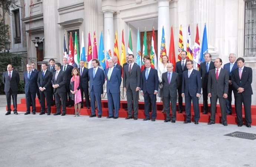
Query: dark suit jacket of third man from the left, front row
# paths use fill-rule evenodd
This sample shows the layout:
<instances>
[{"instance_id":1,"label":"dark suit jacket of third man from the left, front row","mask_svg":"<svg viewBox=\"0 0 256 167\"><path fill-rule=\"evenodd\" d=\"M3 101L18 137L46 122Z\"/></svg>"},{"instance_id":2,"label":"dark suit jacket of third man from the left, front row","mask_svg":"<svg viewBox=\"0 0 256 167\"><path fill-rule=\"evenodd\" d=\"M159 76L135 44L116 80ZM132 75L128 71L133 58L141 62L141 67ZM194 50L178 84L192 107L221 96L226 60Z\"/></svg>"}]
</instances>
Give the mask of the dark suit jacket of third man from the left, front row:
<instances>
[{"instance_id":1,"label":"dark suit jacket of third man from the left, front row","mask_svg":"<svg viewBox=\"0 0 256 167\"><path fill-rule=\"evenodd\" d=\"M37 77L37 87L44 87L46 92L52 91L52 72L46 70L45 76L43 77L43 71L40 71Z\"/></svg>"}]
</instances>

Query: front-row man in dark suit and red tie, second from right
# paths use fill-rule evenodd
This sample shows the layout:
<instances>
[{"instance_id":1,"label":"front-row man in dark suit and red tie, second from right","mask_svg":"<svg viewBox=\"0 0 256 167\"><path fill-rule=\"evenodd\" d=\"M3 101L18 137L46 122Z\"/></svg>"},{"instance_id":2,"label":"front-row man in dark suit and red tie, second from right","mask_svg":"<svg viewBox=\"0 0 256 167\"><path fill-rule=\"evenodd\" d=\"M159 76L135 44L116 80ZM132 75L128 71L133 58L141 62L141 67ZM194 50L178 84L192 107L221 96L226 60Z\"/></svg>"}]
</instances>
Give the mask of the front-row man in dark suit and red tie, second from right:
<instances>
[{"instance_id":1,"label":"front-row man in dark suit and red tie, second from right","mask_svg":"<svg viewBox=\"0 0 256 167\"><path fill-rule=\"evenodd\" d=\"M226 101L229 92L229 72L221 68L222 60L217 58L214 61L215 69L209 71L208 96L211 97L211 118L208 125L215 124L216 105L219 99L221 110L221 122L227 126Z\"/></svg>"}]
</instances>

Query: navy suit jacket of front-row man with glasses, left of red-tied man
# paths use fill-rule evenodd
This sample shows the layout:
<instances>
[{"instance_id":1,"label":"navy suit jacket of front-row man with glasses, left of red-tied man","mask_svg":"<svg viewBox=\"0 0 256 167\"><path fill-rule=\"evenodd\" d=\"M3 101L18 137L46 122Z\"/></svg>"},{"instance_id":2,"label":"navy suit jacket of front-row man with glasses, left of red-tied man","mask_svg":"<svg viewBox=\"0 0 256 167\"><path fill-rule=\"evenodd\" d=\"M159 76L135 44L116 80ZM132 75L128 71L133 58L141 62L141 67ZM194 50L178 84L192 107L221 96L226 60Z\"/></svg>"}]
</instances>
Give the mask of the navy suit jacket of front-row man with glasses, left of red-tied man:
<instances>
[{"instance_id":1,"label":"navy suit jacket of front-row man with glasses, left of red-tied man","mask_svg":"<svg viewBox=\"0 0 256 167\"><path fill-rule=\"evenodd\" d=\"M182 79L182 89L181 93L184 93L185 96L196 96L196 94L201 94L202 81L201 74L197 70L192 70L190 77L188 78L188 70L183 72Z\"/></svg>"}]
</instances>

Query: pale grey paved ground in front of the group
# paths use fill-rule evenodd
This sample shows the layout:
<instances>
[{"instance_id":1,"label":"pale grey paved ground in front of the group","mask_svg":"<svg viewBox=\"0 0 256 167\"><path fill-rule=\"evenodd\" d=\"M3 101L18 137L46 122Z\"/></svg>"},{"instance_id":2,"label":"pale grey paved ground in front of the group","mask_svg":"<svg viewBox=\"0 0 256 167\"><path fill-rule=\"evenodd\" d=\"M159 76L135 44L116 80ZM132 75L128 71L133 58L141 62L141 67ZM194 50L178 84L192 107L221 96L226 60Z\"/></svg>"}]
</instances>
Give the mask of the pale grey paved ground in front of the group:
<instances>
[{"instance_id":1,"label":"pale grey paved ground in front of the group","mask_svg":"<svg viewBox=\"0 0 256 167\"><path fill-rule=\"evenodd\" d=\"M5 96L0 101L1 167L256 166L256 140L224 136L256 134L255 126L22 112L5 116Z\"/></svg>"}]
</instances>

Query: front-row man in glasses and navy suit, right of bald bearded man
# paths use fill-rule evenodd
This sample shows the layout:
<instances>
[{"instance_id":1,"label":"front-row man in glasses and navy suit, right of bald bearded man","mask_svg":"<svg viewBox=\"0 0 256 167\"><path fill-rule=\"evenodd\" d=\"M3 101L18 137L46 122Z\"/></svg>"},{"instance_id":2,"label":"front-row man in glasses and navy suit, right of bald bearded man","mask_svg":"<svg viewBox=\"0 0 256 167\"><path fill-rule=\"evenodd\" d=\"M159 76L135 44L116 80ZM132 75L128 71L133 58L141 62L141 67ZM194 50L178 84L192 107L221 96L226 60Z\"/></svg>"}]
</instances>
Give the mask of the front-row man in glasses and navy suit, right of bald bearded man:
<instances>
[{"instance_id":1,"label":"front-row man in glasses and navy suit, right of bald bearded man","mask_svg":"<svg viewBox=\"0 0 256 167\"><path fill-rule=\"evenodd\" d=\"M194 108L194 124L198 124L200 118L199 111L199 96L201 94L202 81L201 74L199 71L193 69L193 60L187 60L186 71L183 72L182 79L182 97L185 96L185 110L186 110L186 121L184 124L191 123L191 100L193 101Z\"/></svg>"}]
</instances>

